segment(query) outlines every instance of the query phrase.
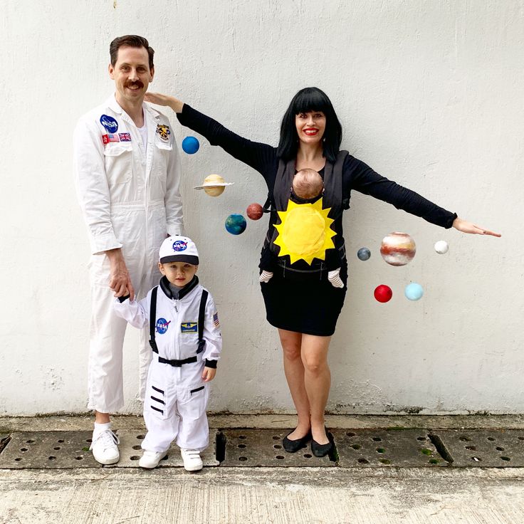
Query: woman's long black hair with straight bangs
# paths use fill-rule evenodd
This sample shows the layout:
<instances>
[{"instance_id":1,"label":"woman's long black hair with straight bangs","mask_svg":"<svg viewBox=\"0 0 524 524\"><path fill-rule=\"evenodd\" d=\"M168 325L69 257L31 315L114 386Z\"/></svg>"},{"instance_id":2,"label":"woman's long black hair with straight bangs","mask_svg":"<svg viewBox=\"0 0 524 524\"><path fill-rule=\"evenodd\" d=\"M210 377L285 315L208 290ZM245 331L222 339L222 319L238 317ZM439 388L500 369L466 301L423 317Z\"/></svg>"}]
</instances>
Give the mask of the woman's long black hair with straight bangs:
<instances>
[{"instance_id":1,"label":"woman's long black hair with straight bangs","mask_svg":"<svg viewBox=\"0 0 524 524\"><path fill-rule=\"evenodd\" d=\"M342 142L342 126L337 118L331 100L319 88L304 88L293 97L281 123L281 140L278 142L277 156L283 160L296 158L298 135L295 115L301 112L322 111L325 115L323 136L324 156L335 162Z\"/></svg>"}]
</instances>

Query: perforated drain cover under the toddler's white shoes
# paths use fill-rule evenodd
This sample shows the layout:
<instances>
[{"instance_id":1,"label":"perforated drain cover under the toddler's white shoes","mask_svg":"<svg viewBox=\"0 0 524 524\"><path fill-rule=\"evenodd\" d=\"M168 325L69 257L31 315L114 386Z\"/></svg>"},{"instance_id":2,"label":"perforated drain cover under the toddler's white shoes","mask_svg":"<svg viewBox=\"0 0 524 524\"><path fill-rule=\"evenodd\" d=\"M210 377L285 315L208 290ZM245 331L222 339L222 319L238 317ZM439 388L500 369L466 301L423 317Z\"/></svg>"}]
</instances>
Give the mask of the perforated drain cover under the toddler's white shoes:
<instances>
[{"instance_id":1,"label":"perforated drain cover under the toddler's white shoes","mask_svg":"<svg viewBox=\"0 0 524 524\"><path fill-rule=\"evenodd\" d=\"M218 431L214 429L209 430L209 447L201 453L202 462L206 466L219 466L219 461L216 460L216 434ZM142 456L142 440L144 439L145 431L120 430L118 431L118 438L120 439L120 461L111 466L104 466L105 468L138 468L138 461ZM180 449L175 444L172 444L167 457L160 461L158 467L167 468L183 468L184 463L180 456Z\"/></svg>"}]
</instances>

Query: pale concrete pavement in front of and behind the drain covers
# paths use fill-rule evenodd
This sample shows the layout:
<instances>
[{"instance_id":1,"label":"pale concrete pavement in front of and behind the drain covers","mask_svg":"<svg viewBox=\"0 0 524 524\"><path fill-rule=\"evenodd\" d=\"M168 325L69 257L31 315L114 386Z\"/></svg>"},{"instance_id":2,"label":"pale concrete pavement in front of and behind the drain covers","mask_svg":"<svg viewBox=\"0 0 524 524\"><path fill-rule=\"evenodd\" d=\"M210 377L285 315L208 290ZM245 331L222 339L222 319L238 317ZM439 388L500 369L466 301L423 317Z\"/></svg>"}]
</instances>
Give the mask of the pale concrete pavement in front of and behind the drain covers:
<instances>
[{"instance_id":1,"label":"pale concrete pavement in front of and behind the drain covers","mask_svg":"<svg viewBox=\"0 0 524 524\"><path fill-rule=\"evenodd\" d=\"M210 426L290 429L293 416L210 416ZM142 430L140 417L115 417ZM523 416L331 416L332 430L524 430ZM88 431L85 417L0 419L0 434ZM259 431L263 433L263 431ZM230 434L232 434L230 432ZM510 434L498 431L497 436ZM517 431L515 435L520 436ZM524 432L523 432L524 436ZM518 441L520 442L520 441ZM465 442L463 444L471 444ZM473 447L473 446L470 446ZM523 440L524 447L524 440ZM1 458L1 454L0 454ZM1 469L0 523L524 522L524 468L317 467Z\"/></svg>"}]
</instances>

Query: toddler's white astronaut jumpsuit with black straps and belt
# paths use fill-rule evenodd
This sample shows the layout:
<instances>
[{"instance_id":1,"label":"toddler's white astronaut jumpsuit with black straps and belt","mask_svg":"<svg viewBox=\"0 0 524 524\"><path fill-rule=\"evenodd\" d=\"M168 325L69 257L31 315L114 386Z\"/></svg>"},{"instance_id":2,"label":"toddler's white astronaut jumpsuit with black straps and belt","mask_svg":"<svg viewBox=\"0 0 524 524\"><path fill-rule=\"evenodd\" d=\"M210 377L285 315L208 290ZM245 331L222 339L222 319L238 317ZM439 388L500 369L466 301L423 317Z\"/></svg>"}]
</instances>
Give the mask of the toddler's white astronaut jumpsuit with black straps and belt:
<instances>
[{"instance_id":1,"label":"toddler's white astronaut jumpsuit with black straps and belt","mask_svg":"<svg viewBox=\"0 0 524 524\"><path fill-rule=\"evenodd\" d=\"M206 406L208 384L202 380L205 365L216 367L222 349L222 337L214 300L208 295L202 332L205 347L198 355L199 306L204 288L195 277L187 293L181 290L178 299L172 298L167 279L157 290L157 310L154 318L155 342L158 355L153 353L147 373L144 419L147 434L142 449L164 452L172 441L182 449L202 451L209 444ZM114 300L115 313L131 325L143 328L150 325L151 291L137 302ZM196 362L179 367L159 362L184 360L196 355Z\"/></svg>"}]
</instances>

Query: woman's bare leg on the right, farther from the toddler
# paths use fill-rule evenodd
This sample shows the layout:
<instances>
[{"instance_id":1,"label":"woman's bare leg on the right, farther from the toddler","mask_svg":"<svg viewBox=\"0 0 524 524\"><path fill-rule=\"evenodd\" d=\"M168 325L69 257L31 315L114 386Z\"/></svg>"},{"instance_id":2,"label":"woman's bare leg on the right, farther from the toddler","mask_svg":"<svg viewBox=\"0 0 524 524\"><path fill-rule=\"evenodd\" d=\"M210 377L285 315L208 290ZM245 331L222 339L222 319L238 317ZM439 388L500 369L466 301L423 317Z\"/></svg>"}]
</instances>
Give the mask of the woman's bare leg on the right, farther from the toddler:
<instances>
[{"instance_id":1,"label":"woman's bare leg on the right, farther from the toddler","mask_svg":"<svg viewBox=\"0 0 524 524\"><path fill-rule=\"evenodd\" d=\"M301 355L304 367L304 387L310 405L313 440L327 444L324 412L330 394L331 372L327 365L327 350L331 337L302 335Z\"/></svg>"}]
</instances>

